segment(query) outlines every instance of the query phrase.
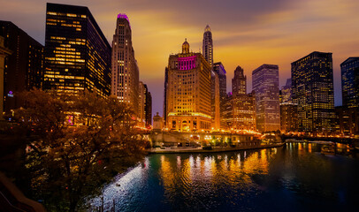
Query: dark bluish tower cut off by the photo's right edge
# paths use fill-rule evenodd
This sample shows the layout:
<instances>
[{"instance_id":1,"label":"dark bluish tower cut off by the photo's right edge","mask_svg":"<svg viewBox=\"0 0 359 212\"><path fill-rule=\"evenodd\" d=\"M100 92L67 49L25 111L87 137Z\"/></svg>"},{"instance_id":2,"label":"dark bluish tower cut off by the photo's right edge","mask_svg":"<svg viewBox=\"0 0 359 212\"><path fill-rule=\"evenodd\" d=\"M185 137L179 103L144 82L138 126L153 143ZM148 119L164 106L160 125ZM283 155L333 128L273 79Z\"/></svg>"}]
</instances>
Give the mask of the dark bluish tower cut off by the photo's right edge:
<instances>
[{"instance_id":1,"label":"dark bluish tower cut off by the photo's right edge","mask_svg":"<svg viewBox=\"0 0 359 212\"><path fill-rule=\"evenodd\" d=\"M343 106L359 108L359 57L349 57L340 68Z\"/></svg>"}]
</instances>

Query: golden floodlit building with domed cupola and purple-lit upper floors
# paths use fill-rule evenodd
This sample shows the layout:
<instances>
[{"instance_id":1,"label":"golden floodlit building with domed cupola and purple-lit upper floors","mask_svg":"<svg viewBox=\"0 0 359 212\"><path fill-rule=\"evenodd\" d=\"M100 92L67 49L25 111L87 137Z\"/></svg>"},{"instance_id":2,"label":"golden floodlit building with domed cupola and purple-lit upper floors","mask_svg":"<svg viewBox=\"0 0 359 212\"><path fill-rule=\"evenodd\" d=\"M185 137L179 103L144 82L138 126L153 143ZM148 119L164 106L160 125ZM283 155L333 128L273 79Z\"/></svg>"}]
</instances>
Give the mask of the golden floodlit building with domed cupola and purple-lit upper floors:
<instances>
[{"instance_id":1,"label":"golden floodlit building with domed cupola and purple-lit upper floors","mask_svg":"<svg viewBox=\"0 0 359 212\"><path fill-rule=\"evenodd\" d=\"M189 52L187 41L182 45L182 53L170 56L164 109L168 129L179 132L210 130L210 69L201 53Z\"/></svg>"}]
</instances>

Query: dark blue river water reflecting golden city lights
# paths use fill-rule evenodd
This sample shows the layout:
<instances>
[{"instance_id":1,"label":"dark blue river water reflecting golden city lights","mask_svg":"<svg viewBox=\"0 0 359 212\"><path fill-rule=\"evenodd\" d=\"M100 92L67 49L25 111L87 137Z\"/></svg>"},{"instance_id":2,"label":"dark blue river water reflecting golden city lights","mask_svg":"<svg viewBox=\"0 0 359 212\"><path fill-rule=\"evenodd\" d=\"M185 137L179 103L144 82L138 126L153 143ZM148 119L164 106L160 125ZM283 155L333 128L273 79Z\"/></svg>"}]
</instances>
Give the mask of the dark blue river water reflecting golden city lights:
<instances>
[{"instance_id":1,"label":"dark blue river water reflecting golden city lights","mask_svg":"<svg viewBox=\"0 0 359 212\"><path fill-rule=\"evenodd\" d=\"M103 205L116 211L358 211L359 155L346 145L323 155L322 146L149 155L104 187Z\"/></svg>"}]
</instances>

